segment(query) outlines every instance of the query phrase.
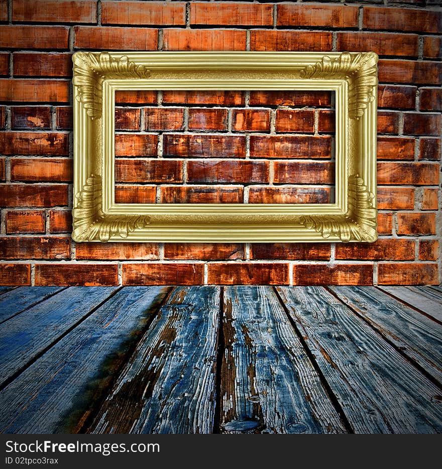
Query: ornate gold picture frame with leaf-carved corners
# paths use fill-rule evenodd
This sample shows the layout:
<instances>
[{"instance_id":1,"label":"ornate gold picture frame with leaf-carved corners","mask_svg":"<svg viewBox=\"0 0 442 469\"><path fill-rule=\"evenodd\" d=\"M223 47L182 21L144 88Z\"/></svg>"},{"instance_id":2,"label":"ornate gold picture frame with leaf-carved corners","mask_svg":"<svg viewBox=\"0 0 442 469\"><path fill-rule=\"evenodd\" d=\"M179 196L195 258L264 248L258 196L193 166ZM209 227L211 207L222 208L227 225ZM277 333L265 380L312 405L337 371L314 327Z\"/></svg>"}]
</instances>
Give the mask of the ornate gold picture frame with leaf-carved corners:
<instances>
[{"instance_id":1,"label":"ornate gold picture frame with leaf-carved corners","mask_svg":"<svg viewBox=\"0 0 442 469\"><path fill-rule=\"evenodd\" d=\"M367 53L76 52L75 242L373 242L377 61ZM117 90L331 90L335 202L117 204Z\"/></svg>"}]
</instances>

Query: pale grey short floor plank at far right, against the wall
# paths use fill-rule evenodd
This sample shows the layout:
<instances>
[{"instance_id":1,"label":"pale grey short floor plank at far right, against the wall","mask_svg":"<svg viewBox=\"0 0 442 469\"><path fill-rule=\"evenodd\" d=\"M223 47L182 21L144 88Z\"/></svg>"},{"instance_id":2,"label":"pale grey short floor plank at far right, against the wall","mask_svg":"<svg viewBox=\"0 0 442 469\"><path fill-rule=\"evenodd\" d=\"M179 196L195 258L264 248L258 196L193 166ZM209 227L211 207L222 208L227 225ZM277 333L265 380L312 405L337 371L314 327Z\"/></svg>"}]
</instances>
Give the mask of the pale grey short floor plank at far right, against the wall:
<instances>
[{"instance_id":1,"label":"pale grey short floor plank at far right, against the wall","mask_svg":"<svg viewBox=\"0 0 442 469\"><path fill-rule=\"evenodd\" d=\"M426 287L379 287L409 305L442 321L442 299ZM429 291L428 291L429 290Z\"/></svg>"}]
</instances>

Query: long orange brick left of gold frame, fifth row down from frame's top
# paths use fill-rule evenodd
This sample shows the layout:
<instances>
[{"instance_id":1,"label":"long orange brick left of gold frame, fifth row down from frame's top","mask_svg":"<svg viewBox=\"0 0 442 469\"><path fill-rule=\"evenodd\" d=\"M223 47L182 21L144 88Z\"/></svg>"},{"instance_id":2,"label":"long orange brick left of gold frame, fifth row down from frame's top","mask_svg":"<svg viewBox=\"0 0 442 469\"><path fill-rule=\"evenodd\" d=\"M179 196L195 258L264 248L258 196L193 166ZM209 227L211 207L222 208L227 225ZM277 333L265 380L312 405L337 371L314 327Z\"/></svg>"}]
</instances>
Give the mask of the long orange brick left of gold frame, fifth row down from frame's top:
<instances>
[{"instance_id":1,"label":"long orange brick left of gold frame, fifth row down from frame's top","mask_svg":"<svg viewBox=\"0 0 442 469\"><path fill-rule=\"evenodd\" d=\"M71 182L72 160L14 158L11 160L11 181Z\"/></svg>"}]
</instances>

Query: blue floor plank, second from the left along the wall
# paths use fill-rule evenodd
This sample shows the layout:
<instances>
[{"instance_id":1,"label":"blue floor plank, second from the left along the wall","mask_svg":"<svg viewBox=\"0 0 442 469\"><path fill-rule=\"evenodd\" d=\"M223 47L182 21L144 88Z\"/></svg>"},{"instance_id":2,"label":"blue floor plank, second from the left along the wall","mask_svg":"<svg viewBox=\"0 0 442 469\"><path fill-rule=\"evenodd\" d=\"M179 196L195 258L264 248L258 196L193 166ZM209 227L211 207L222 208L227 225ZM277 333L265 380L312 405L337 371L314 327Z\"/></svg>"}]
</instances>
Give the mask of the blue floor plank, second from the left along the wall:
<instances>
[{"instance_id":1,"label":"blue floor plank, second from the left along the wall","mask_svg":"<svg viewBox=\"0 0 442 469\"><path fill-rule=\"evenodd\" d=\"M0 387L118 287L70 287L0 324Z\"/></svg>"}]
</instances>

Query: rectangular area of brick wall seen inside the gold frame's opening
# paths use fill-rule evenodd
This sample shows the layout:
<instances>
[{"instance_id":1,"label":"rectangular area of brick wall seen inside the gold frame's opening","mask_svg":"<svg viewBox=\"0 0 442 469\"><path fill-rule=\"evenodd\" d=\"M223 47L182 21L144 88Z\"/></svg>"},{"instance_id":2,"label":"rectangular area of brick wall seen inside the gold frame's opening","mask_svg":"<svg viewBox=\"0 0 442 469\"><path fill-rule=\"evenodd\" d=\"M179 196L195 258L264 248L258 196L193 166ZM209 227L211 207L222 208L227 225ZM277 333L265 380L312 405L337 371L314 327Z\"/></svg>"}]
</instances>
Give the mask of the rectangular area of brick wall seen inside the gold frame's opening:
<instances>
[{"instance_id":1,"label":"rectangular area of brick wall seen inside the gold frame's opening","mask_svg":"<svg viewBox=\"0 0 442 469\"><path fill-rule=\"evenodd\" d=\"M116 91L116 203L334 203L333 91Z\"/></svg>"}]
</instances>

